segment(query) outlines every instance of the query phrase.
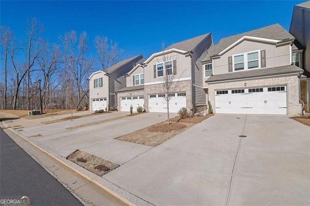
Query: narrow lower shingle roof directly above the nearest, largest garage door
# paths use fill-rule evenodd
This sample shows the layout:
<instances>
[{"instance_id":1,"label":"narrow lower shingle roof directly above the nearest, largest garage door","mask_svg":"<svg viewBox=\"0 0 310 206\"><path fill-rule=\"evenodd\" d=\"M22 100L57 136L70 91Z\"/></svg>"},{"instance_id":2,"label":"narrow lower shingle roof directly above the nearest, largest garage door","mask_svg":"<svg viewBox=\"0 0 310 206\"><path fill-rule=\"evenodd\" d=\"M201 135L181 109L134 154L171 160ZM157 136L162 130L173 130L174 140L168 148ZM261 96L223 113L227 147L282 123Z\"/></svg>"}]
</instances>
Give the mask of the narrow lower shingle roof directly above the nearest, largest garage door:
<instances>
[{"instance_id":1,"label":"narrow lower shingle roof directly above the nearest, largest garage door","mask_svg":"<svg viewBox=\"0 0 310 206\"><path fill-rule=\"evenodd\" d=\"M226 74L216 74L210 76L205 82L216 82L216 81L225 81L225 80L233 80L233 79L246 79L252 77L261 77L261 76L271 76L277 74L291 74L296 72L303 72L301 68L295 65L274 67L274 68L266 68L266 69L255 69L248 70L242 72L230 72Z\"/></svg>"}]
</instances>

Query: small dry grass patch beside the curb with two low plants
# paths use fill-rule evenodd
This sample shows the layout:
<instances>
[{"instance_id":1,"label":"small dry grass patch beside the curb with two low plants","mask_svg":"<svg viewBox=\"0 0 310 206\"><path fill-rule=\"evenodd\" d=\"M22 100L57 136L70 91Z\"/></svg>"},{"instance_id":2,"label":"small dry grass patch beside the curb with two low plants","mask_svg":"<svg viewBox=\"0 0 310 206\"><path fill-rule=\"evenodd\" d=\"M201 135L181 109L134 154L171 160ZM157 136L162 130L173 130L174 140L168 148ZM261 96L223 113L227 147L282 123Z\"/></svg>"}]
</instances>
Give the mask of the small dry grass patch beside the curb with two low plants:
<instances>
[{"instance_id":1,"label":"small dry grass patch beside the curb with two low plants","mask_svg":"<svg viewBox=\"0 0 310 206\"><path fill-rule=\"evenodd\" d=\"M80 150L72 153L67 159L100 177L120 166Z\"/></svg>"}]
</instances>

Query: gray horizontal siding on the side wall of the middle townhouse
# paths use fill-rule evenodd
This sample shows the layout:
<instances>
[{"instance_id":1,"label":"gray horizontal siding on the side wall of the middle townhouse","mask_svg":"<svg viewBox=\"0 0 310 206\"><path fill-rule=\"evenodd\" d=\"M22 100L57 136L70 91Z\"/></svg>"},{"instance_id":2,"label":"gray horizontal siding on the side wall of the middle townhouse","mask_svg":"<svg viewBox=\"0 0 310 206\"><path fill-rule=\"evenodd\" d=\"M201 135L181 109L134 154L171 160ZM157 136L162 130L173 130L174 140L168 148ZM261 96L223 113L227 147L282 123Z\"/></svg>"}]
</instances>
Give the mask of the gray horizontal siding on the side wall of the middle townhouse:
<instances>
[{"instance_id":1,"label":"gray horizontal siding on the side wall of the middle townhouse","mask_svg":"<svg viewBox=\"0 0 310 206\"><path fill-rule=\"evenodd\" d=\"M192 93L193 93L193 103L195 105L205 105L206 104L206 94L203 89L203 68L202 59L207 54L206 49L212 46L211 34L199 44L193 51L192 54Z\"/></svg>"}]
</instances>

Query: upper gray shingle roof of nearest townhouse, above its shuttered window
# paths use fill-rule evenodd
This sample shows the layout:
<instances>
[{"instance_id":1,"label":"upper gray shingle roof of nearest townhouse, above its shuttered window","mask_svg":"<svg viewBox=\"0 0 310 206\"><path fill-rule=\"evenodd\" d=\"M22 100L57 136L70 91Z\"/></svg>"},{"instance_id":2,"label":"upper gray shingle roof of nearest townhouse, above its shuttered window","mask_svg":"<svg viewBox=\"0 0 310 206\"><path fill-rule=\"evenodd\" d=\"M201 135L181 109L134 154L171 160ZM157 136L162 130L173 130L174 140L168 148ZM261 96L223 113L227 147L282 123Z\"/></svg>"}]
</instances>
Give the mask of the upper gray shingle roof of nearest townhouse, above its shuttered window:
<instances>
[{"instance_id":1,"label":"upper gray shingle roof of nearest townhouse, above its shuttered window","mask_svg":"<svg viewBox=\"0 0 310 206\"><path fill-rule=\"evenodd\" d=\"M245 33L237 34L234 36L223 38L219 41L217 45L214 45L205 58L202 61L210 60L210 57L213 55L217 55L224 49L226 49L231 44L235 43L238 39L242 38L243 36L252 36L252 37L260 37L266 39L275 39L275 40L284 40L284 39L294 39L287 30L281 27L279 24L274 24L271 26L263 27L260 29L255 29L252 31L248 31Z\"/></svg>"}]
</instances>

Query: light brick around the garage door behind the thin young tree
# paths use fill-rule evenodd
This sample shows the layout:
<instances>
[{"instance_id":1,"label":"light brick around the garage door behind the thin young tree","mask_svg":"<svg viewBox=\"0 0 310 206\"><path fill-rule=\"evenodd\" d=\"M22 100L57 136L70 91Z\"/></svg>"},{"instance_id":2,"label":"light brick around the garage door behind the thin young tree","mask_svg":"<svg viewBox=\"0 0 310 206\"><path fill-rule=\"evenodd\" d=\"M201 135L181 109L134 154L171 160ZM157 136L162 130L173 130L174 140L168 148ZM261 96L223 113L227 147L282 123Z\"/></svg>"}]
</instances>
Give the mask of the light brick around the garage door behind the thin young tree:
<instances>
[{"instance_id":1,"label":"light brick around the garage door behind the thin young tree","mask_svg":"<svg viewBox=\"0 0 310 206\"><path fill-rule=\"evenodd\" d=\"M186 108L188 111L192 108L191 105L191 85L190 85L190 80L186 81L179 81L175 82L173 84L177 84L174 93L179 93L179 92L186 92ZM174 85L172 86L174 87ZM162 94L164 93L163 90L163 84L155 84L155 85L144 85L144 105L145 105L145 110L148 112L148 95L150 94Z\"/></svg>"}]
</instances>

